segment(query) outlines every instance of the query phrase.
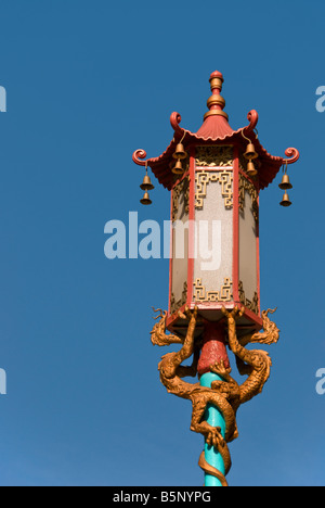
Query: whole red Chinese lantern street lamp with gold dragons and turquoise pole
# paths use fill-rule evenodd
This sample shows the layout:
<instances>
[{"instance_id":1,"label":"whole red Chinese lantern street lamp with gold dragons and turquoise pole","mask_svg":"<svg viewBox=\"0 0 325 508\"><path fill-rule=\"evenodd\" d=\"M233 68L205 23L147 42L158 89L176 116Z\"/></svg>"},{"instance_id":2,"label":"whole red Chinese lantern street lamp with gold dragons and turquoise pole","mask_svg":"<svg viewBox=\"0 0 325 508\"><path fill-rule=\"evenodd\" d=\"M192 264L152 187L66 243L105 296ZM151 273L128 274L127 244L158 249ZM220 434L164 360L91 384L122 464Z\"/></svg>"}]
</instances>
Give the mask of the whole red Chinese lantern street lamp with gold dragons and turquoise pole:
<instances>
[{"instance_id":1,"label":"whole red Chinese lantern street lamp with gold dragons and turquoise pole","mask_svg":"<svg viewBox=\"0 0 325 508\"><path fill-rule=\"evenodd\" d=\"M181 116L172 113L174 136L167 150L147 160L138 150L133 161L150 166L171 191L169 308L159 309L152 342L181 347L162 357L160 380L169 393L192 402L191 430L205 437L199 458L205 485L220 486L227 484L231 467L227 443L238 435L236 412L270 377L268 353L246 346L278 340L271 310L260 308L259 194L284 167L281 204L290 204L287 167L299 152L289 148L287 158L270 155L256 134L256 111L248 114L248 126L233 130L220 94L222 74L212 73L210 84L199 130L183 129ZM242 384L231 377L229 352L246 376ZM192 357L192 366L182 365ZM197 374L197 383L184 381Z\"/></svg>"}]
</instances>

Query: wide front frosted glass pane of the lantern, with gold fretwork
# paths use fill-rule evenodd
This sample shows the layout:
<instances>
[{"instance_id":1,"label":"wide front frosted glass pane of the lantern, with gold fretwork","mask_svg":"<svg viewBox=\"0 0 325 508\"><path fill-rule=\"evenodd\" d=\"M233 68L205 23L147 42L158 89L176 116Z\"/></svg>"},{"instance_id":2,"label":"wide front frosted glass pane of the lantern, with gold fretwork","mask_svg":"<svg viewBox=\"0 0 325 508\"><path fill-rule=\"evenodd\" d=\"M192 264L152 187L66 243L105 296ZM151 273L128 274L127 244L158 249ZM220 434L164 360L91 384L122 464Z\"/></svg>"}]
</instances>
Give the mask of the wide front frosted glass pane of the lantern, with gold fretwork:
<instances>
[{"instance_id":1,"label":"wide front frosted glass pane of the lantern, with gold fretwork","mask_svg":"<svg viewBox=\"0 0 325 508\"><path fill-rule=\"evenodd\" d=\"M195 173L193 301L220 308L233 300L233 150L211 147L204 153Z\"/></svg>"}]
</instances>

